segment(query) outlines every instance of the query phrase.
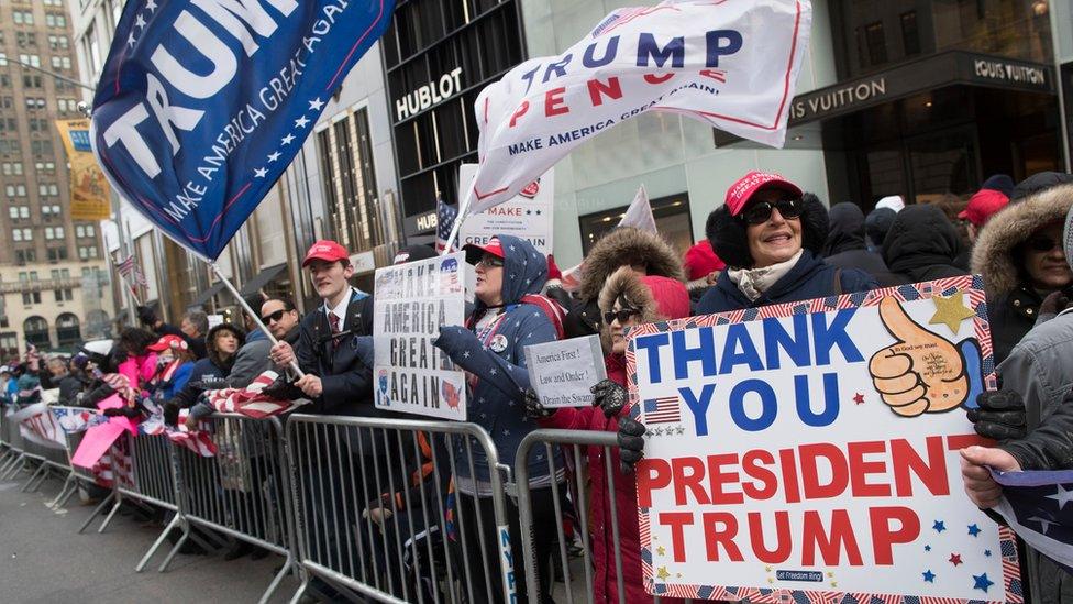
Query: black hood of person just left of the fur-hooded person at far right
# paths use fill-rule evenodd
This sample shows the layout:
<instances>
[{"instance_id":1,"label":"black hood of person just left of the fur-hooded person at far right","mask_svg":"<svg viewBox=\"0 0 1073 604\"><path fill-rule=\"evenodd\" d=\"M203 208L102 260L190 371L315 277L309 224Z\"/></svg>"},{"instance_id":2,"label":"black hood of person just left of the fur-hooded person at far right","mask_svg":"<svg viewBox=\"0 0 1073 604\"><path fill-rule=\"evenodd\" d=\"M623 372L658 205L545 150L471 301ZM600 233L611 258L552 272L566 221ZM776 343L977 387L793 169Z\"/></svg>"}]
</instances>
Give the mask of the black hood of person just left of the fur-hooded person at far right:
<instances>
[{"instance_id":1,"label":"black hood of person just left of the fur-hooded person at far right","mask_svg":"<svg viewBox=\"0 0 1073 604\"><path fill-rule=\"evenodd\" d=\"M964 243L958 230L936 206L909 206L898 212L883 241L883 260L904 283L969 274L958 266Z\"/></svg>"}]
</instances>

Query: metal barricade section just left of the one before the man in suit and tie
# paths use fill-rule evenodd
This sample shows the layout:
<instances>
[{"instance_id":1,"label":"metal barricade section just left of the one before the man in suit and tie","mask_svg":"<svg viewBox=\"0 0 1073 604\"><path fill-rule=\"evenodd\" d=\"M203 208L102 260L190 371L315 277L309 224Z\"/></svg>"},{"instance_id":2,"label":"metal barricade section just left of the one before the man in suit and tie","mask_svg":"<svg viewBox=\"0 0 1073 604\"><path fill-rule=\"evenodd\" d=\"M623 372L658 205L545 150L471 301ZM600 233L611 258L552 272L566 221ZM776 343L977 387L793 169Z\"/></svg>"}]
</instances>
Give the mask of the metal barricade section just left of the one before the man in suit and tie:
<instances>
[{"instance_id":1,"label":"metal barricade section just left of the one before the man in suit and tie","mask_svg":"<svg viewBox=\"0 0 1073 604\"><path fill-rule=\"evenodd\" d=\"M173 446L178 460L179 516L191 525L284 556L283 568L262 596L267 602L298 564L283 425L277 418L230 414L215 414L208 421L217 447L214 457ZM180 546L181 541L175 549Z\"/></svg>"}]
</instances>

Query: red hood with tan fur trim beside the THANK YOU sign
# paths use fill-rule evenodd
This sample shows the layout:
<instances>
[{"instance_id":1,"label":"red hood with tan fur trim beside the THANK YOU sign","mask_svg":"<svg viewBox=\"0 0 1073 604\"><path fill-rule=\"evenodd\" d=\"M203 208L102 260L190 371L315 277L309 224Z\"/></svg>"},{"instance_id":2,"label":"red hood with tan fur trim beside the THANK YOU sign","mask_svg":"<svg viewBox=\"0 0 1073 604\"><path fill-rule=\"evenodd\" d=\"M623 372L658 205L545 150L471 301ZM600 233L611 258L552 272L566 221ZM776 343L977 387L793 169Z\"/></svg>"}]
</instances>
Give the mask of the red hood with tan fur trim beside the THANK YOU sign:
<instances>
[{"instance_id":1,"label":"red hood with tan fur trim beside the THANK YOU sign","mask_svg":"<svg viewBox=\"0 0 1073 604\"><path fill-rule=\"evenodd\" d=\"M600 312L613 308L615 300L620 297L624 297L629 306L641 310L638 317L641 323L689 316L689 293L685 284L675 278L641 276L629 266L622 266L607 278L600 289Z\"/></svg>"}]
</instances>

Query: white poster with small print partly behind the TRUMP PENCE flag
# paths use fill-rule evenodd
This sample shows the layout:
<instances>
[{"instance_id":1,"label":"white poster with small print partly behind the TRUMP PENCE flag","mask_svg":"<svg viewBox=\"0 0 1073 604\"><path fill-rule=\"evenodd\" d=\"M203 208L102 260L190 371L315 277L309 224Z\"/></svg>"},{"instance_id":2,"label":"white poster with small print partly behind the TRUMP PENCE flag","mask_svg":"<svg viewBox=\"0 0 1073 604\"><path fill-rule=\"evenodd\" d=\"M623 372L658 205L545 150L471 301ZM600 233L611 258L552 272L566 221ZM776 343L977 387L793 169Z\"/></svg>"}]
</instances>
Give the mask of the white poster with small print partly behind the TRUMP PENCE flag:
<instances>
[{"instance_id":1,"label":"white poster with small print partly behind the TRUMP PENCE flag","mask_svg":"<svg viewBox=\"0 0 1073 604\"><path fill-rule=\"evenodd\" d=\"M476 174L477 164L458 166L458 199L465 198ZM458 229L458 245L484 245L500 234L524 239L545 256L555 253L555 168L507 201L466 216Z\"/></svg>"}]
</instances>

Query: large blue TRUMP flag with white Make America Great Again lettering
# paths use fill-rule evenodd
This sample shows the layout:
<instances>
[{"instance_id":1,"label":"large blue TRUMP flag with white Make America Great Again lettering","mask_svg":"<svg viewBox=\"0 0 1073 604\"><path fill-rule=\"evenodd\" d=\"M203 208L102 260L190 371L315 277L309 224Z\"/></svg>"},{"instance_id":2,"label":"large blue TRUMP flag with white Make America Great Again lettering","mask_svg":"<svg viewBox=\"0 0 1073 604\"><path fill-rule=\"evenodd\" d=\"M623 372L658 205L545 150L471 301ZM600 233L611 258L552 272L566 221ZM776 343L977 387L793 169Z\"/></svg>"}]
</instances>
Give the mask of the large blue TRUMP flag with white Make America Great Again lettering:
<instances>
[{"instance_id":1,"label":"large blue TRUMP flag with white Make America Great Again lettering","mask_svg":"<svg viewBox=\"0 0 1073 604\"><path fill-rule=\"evenodd\" d=\"M215 260L300 150L394 0L129 0L93 98L112 186Z\"/></svg>"}]
</instances>

